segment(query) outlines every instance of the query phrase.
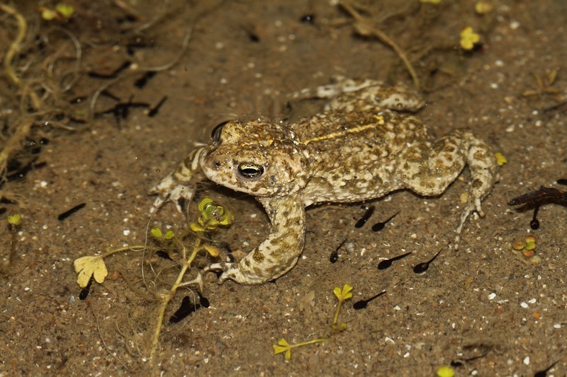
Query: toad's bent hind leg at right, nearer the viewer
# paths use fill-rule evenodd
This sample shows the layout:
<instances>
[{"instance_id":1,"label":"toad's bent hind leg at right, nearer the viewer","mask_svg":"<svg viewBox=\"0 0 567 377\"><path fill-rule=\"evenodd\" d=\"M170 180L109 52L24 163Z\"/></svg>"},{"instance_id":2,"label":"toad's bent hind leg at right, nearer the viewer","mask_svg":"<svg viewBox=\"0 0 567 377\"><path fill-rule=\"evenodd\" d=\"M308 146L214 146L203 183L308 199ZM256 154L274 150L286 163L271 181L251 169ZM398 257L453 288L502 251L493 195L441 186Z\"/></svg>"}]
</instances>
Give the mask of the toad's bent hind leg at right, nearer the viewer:
<instances>
[{"instance_id":1,"label":"toad's bent hind leg at right, nearer the viewer","mask_svg":"<svg viewBox=\"0 0 567 377\"><path fill-rule=\"evenodd\" d=\"M459 249L461 231L468 216L477 211L484 216L481 200L490 192L498 180L498 164L494 153L484 141L471 132L456 129L451 134L436 141L430 148L417 146L408 149L407 161L414 161L417 173L405 177L405 185L417 194L425 196L441 195L461 173L465 165L471 170L471 186L468 199L456 228L455 250ZM424 162L425 161L425 162Z\"/></svg>"}]
</instances>

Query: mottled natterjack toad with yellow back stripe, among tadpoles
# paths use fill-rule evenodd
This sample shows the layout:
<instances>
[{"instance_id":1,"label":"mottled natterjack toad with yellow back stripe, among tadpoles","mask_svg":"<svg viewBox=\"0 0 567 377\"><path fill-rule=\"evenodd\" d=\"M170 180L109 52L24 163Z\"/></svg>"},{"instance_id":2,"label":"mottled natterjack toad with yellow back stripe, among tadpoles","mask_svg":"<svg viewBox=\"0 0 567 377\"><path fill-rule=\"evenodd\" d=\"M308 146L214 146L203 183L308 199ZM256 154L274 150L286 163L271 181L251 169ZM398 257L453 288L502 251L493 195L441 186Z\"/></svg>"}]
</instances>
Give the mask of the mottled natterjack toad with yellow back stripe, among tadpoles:
<instances>
[{"instance_id":1,"label":"mottled natterjack toad with yellow back stripe, among tadpoles","mask_svg":"<svg viewBox=\"0 0 567 377\"><path fill-rule=\"evenodd\" d=\"M303 97L312 95L300 93ZM471 170L468 202L459 235L497 179L493 152L466 129L432 142L408 112L424 105L403 87L339 78L313 93L329 98L325 110L298 122L248 116L217 127L208 146L193 149L153 192L154 213L167 200L191 199L199 180L254 196L266 209L271 233L240 262L220 262L220 281L261 284L281 277L297 262L305 240L305 207L320 202L360 202L409 189L440 195Z\"/></svg>"}]
</instances>

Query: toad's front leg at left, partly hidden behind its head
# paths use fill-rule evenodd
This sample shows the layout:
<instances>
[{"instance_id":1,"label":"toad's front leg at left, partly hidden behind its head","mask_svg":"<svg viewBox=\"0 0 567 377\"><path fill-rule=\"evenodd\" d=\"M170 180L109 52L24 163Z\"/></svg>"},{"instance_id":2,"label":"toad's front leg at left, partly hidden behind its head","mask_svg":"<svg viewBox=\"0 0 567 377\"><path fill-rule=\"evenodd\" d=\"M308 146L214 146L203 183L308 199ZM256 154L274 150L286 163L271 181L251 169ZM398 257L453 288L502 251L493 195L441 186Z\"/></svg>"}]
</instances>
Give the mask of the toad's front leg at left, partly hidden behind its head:
<instances>
[{"instance_id":1,"label":"toad's front leg at left, partly hidden behind its head","mask_svg":"<svg viewBox=\"0 0 567 377\"><path fill-rule=\"evenodd\" d=\"M207 149L208 146L193 149L172 173L152 187L150 194L158 196L150 208L150 216L168 201L174 202L177 210L182 211L181 199L191 200L195 194L195 183L206 179L199 166L199 158Z\"/></svg>"}]
</instances>

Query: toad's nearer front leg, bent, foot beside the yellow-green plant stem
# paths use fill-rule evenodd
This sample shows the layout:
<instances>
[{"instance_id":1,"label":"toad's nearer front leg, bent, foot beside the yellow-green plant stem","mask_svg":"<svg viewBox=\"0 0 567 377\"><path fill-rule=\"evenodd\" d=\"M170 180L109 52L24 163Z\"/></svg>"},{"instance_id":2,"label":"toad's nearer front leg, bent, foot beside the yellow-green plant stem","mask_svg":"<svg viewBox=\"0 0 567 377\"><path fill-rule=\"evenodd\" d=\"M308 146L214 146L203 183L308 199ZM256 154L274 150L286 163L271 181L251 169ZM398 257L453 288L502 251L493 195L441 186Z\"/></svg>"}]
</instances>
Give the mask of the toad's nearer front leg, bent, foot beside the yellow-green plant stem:
<instances>
[{"instance_id":1,"label":"toad's nearer front leg, bent, foot beside the yellow-green plant stem","mask_svg":"<svg viewBox=\"0 0 567 377\"><path fill-rule=\"evenodd\" d=\"M214 263L203 272L222 270L219 281L262 284L296 265L305 243L305 202L301 193L283 198L258 198L271 221L270 235L240 262Z\"/></svg>"}]
</instances>

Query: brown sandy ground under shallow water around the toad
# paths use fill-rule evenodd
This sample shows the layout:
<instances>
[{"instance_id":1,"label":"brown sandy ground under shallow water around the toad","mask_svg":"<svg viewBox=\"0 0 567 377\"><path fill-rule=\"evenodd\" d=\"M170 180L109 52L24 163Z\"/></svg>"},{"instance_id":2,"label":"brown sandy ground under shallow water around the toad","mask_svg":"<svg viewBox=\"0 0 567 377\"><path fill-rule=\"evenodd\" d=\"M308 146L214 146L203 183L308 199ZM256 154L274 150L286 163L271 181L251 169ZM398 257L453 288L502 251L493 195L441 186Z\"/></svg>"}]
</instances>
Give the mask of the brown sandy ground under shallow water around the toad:
<instances>
[{"instance_id":1,"label":"brown sandy ground under shallow water around the toad","mask_svg":"<svg viewBox=\"0 0 567 377\"><path fill-rule=\"evenodd\" d=\"M415 274L415 265L454 236L468 170L440 197L397 192L371 202L376 211L362 228L354 227L364 214L361 204L310 209L303 257L291 272L261 286L218 285L208 274L203 295L210 307L166 324L153 363L148 356L156 295L171 286L179 268L152 256L142 277L141 253L113 255L106 259L106 281L92 284L80 300L73 260L143 244L154 200L147 191L197 141L207 142L220 119L253 111L279 115L286 111L286 95L329 83L337 74L408 86L412 81L390 47L356 35L352 17L329 0L130 1L137 11L130 15L118 1L66 3L75 13L61 23L40 21L36 1L17 2L30 25L26 48L14 60L17 72L45 79L38 62L50 56L58 57L55 81L72 72L70 37L52 29L64 28L80 42L82 62L77 81L60 99L84 96L70 105L80 118L97 88L107 86L115 98L101 95L95 110L115 111L86 123L67 117L72 131L37 122L27 139L36 148L12 161L1 190L21 202L5 200L0 211L4 218L19 213L23 221L12 258L12 233L8 226L0 230L2 376L434 376L444 365L457 376L529 376L554 363L548 376L565 376L567 209L544 205L534 231L532 208L506 204L541 185L565 188L556 184L567 178L565 1L492 1L484 16L475 12L476 1L359 3L371 25L408 53L427 99L417 117L432 134L467 127L507 158L483 203L485 218L468 222L459 252L444 251L427 272ZM134 30L156 15L162 15L157 22ZM16 25L0 16L4 58ZM481 35L472 52L459 47L466 26ZM175 59L187 28L191 40L179 61L136 86L143 67ZM36 37L46 33L44 46ZM23 69L29 62L35 71ZM137 64L137 71L118 71L125 63ZM2 85L6 111L17 103L16 88ZM131 100L152 108L165 96L152 117L148 108L128 105ZM14 117L2 119L5 137ZM18 173L30 158L31 169ZM225 250L250 250L269 232L252 198L202 187L192 211L203 197L235 214L235 224L215 234ZM82 203L84 208L58 219ZM383 231L371 231L398 211ZM150 226L184 228L186 217L168 204ZM528 234L537 238L539 264L511 251ZM345 238L332 264L330 255ZM412 254L390 268L376 268L407 252ZM332 291L344 284L354 287L339 314L347 328L333 332ZM354 310L354 302L384 290L367 308ZM192 291L177 292L166 319L185 296L193 298ZM330 340L294 348L290 361L274 355L272 345L281 338L298 343L320 337Z\"/></svg>"}]
</instances>

